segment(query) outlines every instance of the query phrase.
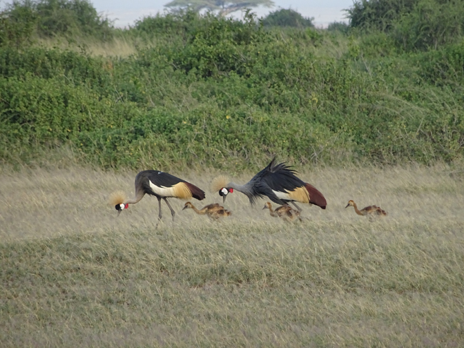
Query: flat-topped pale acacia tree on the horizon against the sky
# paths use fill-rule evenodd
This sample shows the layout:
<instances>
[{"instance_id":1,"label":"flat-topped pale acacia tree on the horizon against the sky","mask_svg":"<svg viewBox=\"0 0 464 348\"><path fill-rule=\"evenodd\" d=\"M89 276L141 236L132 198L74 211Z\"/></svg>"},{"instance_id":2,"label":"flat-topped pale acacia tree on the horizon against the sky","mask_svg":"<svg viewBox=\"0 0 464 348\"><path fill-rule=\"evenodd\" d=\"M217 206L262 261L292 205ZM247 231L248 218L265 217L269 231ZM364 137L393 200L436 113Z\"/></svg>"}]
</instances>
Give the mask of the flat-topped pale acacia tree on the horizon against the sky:
<instances>
[{"instance_id":1,"label":"flat-topped pale acacia tree on the horizon against the sky","mask_svg":"<svg viewBox=\"0 0 464 348\"><path fill-rule=\"evenodd\" d=\"M258 6L271 8L274 6L274 2L272 0L173 0L164 5L164 7L171 8L171 10L218 11L221 16L226 16L244 8Z\"/></svg>"}]
</instances>

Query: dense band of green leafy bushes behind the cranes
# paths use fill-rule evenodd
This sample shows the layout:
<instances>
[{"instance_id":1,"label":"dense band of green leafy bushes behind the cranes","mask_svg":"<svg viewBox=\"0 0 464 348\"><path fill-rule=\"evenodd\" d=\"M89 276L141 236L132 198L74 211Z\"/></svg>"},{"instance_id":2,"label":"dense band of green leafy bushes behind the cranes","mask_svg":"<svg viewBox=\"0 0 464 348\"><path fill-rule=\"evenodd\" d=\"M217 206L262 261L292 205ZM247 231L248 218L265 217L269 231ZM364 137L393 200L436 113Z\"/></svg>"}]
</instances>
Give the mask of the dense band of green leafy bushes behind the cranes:
<instances>
[{"instance_id":1,"label":"dense band of green leafy bushes behind the cranes","mask_svg":"<svg viewBox=\"0 0 464 348\"><path fill-rule=\"evenodd\" d=\"M2 162L28 163L59 146L103 168L259 167L272 155L293 164L463 158L461 32L421 43L433 37L427 30L443 33L427 27L399 44L396 17L388 30L356 31L354 10L349 36L264 29L251 12L242 21L157 14L127 30L83 15L76 26L88 37L103 39L84 18L137 42L133 55L101 57L31 45L46 31L23 23L45 21L43 3L14 3L1 16L15 33L3 31L0 48ZM93 13L86 2L58 4L77 3ZM63 35L72 26L47 28Z\"/></svg>"}]
</instances>

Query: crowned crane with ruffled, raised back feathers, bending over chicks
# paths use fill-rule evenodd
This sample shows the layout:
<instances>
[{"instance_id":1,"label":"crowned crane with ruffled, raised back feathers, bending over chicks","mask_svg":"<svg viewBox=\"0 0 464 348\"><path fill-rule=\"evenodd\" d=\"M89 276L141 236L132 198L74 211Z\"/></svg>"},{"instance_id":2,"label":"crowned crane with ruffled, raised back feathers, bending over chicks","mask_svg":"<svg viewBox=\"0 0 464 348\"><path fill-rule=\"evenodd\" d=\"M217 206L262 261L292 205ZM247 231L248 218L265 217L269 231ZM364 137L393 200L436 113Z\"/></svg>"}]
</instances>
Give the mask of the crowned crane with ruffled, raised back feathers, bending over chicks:
<instances>
[{"instance_id":1,"label":"crowned crane with ruffled, raised back feathers, bending over chicks","mask_svg":"<svg viewBox=\"0 0 464 348\"><path fill-rule=\"evenodd\" d=\"M236 190L247 195L251 205L254 205L258 198L269 197L269 200L280 205L291 202L299 212L301 209L295 202L314 204L322 209L327 206L324 195L316 187L300 180L296 176L296 171L285 163L276 164L275 157L247 184L239 185L235 182L228 183L228 181L226 177L220 176L216 177L211 184L213 191L219 191L222 202L226 201L229 193Z\"/></svg>"}]
</instances>

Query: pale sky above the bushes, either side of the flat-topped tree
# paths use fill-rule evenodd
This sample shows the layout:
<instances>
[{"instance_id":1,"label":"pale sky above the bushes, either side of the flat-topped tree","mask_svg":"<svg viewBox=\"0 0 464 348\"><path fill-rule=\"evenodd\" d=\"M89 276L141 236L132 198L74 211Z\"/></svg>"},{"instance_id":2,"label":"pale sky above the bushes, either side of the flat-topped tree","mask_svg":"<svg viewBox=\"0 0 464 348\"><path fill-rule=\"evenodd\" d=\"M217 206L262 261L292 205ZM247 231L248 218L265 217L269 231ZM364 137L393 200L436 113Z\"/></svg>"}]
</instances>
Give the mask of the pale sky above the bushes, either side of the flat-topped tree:
<instances>
[{"instance_id":1,"label":"pale sky above the bushes, either side of the flat-topped tree","mask_svg":"<svg viewBox=\"0 0 464 348\"><path fill-rule=\"evenodd\" d=\"M100 14L115 20L115 26L133 26L137 19L153 16L157 12L163 13L164 5L170 0L90 0ZM350 8L353 0L273 0L276 4L273 8L253 8L258 17L264 17L269 12L279 8L291 8L301 13L303 17L314 17L317 27L327 27L333 21L347 21L343 9ZM10 1L8 1L10 2ZM241 12L233 13L234 17L241 17Z\"/></svg>"}]
</instances>

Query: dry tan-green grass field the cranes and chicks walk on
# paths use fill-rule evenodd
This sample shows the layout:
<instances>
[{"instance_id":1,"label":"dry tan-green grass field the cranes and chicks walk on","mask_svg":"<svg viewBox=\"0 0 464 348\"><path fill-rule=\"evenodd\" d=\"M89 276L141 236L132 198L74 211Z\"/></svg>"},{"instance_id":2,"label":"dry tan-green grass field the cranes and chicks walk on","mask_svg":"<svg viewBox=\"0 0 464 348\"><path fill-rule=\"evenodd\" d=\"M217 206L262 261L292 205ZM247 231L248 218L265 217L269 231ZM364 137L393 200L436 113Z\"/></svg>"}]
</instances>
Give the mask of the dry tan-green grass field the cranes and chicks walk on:
<instances>
[{"instance_id":1,"label":"dry tan-green grass field the cranes and chicks walk on","mask_svg":"<svg viewBox=\"0 0 464 348\"><path fill-rule=\"evenodd\" d=\"M219 173L175 174L206 189ZM106 203L134 176L3 168L2 347L464 345L462 171L313 168L301 177L328 206L302 223L233 193L229 219L173 201L158 229L151 197L119 218ZM369 222L349 199L389 216Z\"/></svg>"}]
</instances>

